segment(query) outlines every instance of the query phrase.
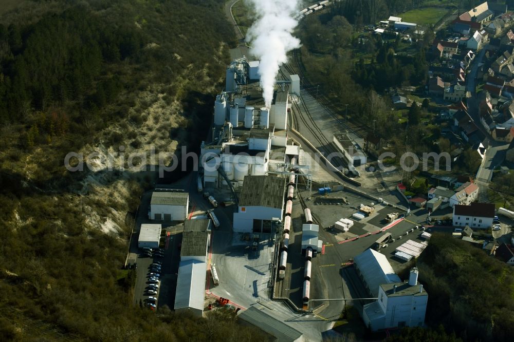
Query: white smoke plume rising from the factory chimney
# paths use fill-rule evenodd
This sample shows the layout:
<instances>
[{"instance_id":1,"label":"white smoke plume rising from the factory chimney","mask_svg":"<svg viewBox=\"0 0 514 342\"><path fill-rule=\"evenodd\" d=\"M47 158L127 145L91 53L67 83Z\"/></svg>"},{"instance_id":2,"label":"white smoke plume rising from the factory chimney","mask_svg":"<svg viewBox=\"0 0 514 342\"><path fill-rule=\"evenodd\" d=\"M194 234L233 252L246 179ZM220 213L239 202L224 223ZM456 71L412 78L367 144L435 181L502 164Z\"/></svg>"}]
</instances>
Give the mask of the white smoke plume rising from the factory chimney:
<instances>
[{"instance_id":1,"label":"white smoke plume rising from the factory chimney","mask_svg":"<svg viewBox=\"0 0 514 342\"><path fill-rule=\"evenodd\" d=\"M248 0L256 13L256 20L248 29L250 52L258 58L259 74L266 107L273 99L273 86L280 65L287 62L287 52L300 47L300 40L292 31L298 22L293 15L298 12L300 0Z\"/></svg>"}]
</instances>

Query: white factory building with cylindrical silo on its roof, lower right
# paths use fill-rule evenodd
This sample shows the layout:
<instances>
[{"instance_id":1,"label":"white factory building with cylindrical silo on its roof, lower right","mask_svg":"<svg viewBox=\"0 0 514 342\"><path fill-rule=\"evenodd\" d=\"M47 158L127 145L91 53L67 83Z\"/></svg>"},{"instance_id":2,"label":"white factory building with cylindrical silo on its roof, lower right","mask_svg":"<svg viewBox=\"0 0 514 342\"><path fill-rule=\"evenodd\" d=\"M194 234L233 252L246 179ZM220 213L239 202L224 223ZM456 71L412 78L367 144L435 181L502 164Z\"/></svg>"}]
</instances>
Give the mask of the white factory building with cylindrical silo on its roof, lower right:
<instances>
[{"instance_id":1,"label":"white factory building with cylindrical silo on its roof, lower right","mask_svg":"<svg viewBox=\"0 0 514 342\"><path fill-rule=\"evenodd\" d=\"M413 268L409 281L380 284L378 300L364 305L362 318L372 331L388 328L421 327L425 322L428 293L417 282Z\"/></svg>"}]
</instances>

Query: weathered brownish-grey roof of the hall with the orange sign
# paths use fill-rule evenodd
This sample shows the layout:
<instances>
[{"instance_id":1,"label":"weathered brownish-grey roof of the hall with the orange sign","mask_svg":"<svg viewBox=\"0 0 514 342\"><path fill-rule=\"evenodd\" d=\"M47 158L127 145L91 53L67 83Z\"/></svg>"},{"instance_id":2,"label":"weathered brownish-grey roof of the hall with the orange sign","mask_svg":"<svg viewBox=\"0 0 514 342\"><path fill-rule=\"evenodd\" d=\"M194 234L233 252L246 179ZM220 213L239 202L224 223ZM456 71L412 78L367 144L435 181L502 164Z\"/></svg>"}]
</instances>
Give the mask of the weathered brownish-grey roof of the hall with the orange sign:
<instances>
[{"instance_id":1,"label":"weathered brownish-grey roof of the hall with the orange sign","mask_svg":"<svg viewBox=\"0 0 514 342\"><path fill-rule=\"evenodd\" d=\"M285 179L273 176L245 176L240 206L264 206L281 209Z\"/></svg>"}]
</instances>

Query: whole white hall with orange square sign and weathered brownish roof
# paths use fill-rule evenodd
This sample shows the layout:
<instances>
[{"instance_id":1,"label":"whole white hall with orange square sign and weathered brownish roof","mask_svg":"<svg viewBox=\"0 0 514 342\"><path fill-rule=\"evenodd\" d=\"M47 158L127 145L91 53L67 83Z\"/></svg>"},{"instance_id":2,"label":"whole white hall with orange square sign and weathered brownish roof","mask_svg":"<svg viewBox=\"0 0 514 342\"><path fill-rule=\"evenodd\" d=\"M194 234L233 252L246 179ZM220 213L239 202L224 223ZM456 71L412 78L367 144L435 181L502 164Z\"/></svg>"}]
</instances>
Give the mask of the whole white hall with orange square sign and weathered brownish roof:
<instances>
[{"instance_id":1,"label":"whole white hall with orange square sign and weathered brownish roof","mask_svg":"<svg viewBox=\"0 0 514 342\"><path fill-rule=\"evenodd\" d=\"M234 232L269 233L274 218L282 220L285 179L274 176L246 176L234 213Z\"/></svg>"}]
</instances>

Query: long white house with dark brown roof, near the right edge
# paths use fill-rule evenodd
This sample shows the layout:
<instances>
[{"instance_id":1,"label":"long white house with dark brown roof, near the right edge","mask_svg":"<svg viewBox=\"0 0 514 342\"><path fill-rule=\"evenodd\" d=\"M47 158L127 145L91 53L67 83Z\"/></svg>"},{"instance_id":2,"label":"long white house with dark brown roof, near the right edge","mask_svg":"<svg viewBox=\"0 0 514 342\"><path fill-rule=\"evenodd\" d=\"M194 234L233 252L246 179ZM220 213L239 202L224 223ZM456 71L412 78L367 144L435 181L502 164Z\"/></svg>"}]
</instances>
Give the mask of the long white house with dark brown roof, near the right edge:
<instances>
[{"instance_id":1,"label":"long white house with dark brown roof, near the right edge","mask_svg":"<svg viewBox=\"0 0 514 342\"><path fill-rule=\"evenodd\" d=\"M472 229L487 229L494 218L494 204L473 202L470 205L453 206L453 225Z\"/></svg>"}]
</instances>

